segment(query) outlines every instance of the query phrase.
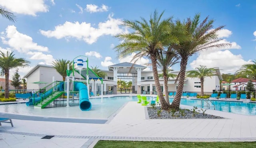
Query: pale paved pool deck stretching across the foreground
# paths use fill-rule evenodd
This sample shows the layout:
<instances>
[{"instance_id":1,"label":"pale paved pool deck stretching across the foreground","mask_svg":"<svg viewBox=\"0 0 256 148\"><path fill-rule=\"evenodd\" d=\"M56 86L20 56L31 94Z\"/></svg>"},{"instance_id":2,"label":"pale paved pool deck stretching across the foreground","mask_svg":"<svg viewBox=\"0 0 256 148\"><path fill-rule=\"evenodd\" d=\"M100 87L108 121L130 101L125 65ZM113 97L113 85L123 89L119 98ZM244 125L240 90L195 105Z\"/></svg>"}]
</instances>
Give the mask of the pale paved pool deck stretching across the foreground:
<instances>
[{"instance_id":1,"label":"pale paved pool deck stretching across the foreground","mask_svg":"<svg viewBox=\"0 0 256 148\"><path fill-rule=\"evenodd\" d=\"M98 140L256 141L256 116L206 113L224 119L148 119L146 107L136 102L128 102L105 124L13 119L14 127L0 126L0 147L92 148ZM41 139L47 135L54 137Z\"/></svg>"}]
</instances>

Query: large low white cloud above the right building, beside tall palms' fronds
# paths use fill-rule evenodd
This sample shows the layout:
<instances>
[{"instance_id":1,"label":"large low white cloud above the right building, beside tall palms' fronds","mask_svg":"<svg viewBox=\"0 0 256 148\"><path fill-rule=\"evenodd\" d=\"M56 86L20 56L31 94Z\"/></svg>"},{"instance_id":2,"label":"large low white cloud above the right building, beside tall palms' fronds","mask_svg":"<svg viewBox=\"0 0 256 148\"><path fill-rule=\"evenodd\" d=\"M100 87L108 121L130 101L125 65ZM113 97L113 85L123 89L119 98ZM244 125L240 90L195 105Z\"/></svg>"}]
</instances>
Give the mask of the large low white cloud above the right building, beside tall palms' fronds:
<instances>
[{"instance_id":1,"label":"large low white cloud above the right building, beside tall palms' fronds","mask_svg":"<svg viewBox=\"0 0 256 148\"><path fill-rule=\"evenodd\" d=\"M249 61L243 60L242 56L234 55L229 50L216 51L211 53L201 52L196 60L190 63L192 68L199 65L205 65L208 68L219 67L224 74L234 73L243 64L248 64Z\"/></svg>"}]
</instances>

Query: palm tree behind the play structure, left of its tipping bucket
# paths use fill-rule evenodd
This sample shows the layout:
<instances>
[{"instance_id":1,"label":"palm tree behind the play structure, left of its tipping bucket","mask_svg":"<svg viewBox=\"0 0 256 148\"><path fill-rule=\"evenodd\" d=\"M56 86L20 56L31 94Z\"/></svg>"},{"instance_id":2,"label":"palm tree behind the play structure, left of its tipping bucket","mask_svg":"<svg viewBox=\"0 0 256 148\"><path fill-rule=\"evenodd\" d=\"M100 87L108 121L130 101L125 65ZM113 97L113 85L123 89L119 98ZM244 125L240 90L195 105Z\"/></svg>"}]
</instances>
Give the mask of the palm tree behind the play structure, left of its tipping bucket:
<instances>
[{"instance_id":1,"label":"palm tree behind the play structure, left of its tipping bucket","mask_svg":"<svg viewBox=\"0 0 256 148\"><path fill-rule=\"evenodd\" d=\"M67 76L67 68L69 64L69 69L72 70L72 62L70 60L64 60L64 59L56 59L54 62L52 62L53 67L56 69L56 71L62 76L62 80L66 80Z\"/></svg>"}]
</instances>

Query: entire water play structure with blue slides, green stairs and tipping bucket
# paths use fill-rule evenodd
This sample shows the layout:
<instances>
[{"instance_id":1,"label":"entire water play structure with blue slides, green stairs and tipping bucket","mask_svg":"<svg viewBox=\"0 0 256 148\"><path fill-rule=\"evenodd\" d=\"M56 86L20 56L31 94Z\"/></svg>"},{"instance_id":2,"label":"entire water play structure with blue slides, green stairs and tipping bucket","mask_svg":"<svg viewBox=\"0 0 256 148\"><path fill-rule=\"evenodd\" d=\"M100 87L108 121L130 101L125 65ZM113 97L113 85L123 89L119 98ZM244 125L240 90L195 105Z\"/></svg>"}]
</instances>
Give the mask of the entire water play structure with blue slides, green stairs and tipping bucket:
<instances>
[{"instance_id":1,"label":"entire water play structure with blue slides, green stairs and tipping bucket","mask_svg":"<svg viewBox=\"0 0 256 148\"><path fill-rule=\"evenodd\" d=\"M33 94L32 98L26 102L27 106L34 106L35 108L46 108L46 107L55 107L55 106L74 106L76 104L76 100L74 96L79 93L79 105L80 110L88 111L92 108L92 104L89 100L89 80L91 82L97 80L101 82L101 91L103 88L103 81L97 74L95 74L88 67L88 57L86 60L82 58L86 56L77 56L73 59L72 70L69 69L70 65L68 64L67 72L67 81L55 81L53 78L53 82L48 86L40 89L38 92ZM75 60L77 62L75 62ZM83 62L87 63L86 69L83 67ZM80 81L75 80L75 72L80 75ZM72 81L70 81L70 74L73 74ZM81 77L86 80L87 86L81 81ZM96 83L96 81L95 81ZM101 93L102 95L103 93ZM72 95L72 100L70 102L70 95ZM64 99L61 96L66 96L67 99ZM103 96L102 96L103 97ZM66 102L66 103L65 103Z\"/></svg>"}]
</instances>

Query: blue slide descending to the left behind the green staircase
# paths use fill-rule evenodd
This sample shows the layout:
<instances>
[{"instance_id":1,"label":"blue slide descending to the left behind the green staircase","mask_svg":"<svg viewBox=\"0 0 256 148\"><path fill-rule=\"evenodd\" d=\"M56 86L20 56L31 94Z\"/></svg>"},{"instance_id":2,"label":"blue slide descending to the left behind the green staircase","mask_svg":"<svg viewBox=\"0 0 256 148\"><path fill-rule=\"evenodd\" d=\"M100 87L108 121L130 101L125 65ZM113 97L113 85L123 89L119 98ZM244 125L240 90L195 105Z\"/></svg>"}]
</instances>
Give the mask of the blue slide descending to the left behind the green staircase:
<instances>
[{"instance_id":1,"label":"blue slide descending to the left behind the green staircase","mask_svg":"<svg viewBox=\"0 0 256 148\"><path fill-rule=\"evenodd\" d=\"M60 82L60 84L57 85L57 90L58 91L64 91L64 82ZM26 102L26 106L33 106L34 103L37 103L39 101L41 101L42 98L49 96L50 94L52 94L52 88L50 90L47 90L46 92L44 92L41 96L39 97L33 97L30 98L28 100L28 102ZM33 103L34 100L34 103Z\"/></svg>"}]
</instances>

